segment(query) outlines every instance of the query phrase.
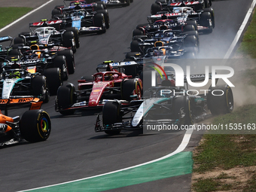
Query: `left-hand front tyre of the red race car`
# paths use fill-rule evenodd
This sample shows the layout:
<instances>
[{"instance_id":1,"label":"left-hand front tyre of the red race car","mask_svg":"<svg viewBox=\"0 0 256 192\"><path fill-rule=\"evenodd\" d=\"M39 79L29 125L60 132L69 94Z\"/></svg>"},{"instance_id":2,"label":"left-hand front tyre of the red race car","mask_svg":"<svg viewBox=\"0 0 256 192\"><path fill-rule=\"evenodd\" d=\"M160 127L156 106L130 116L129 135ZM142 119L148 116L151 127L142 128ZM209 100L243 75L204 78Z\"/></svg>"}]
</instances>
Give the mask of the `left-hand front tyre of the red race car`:
<instances>
[{"instance_id":1,"label":"left-hand front tyre of the red race car","mask_svg":"<svg viewBox=\"0 0 256 192\"><path fill-rule=\"evenodd\" d=\"M63 115L74 114L75 110L62 110L69 108L75 102L75 87L73 84L60 86L56 94L56 105L59 108L59 113Z\"/></svg>"}]
</instances>

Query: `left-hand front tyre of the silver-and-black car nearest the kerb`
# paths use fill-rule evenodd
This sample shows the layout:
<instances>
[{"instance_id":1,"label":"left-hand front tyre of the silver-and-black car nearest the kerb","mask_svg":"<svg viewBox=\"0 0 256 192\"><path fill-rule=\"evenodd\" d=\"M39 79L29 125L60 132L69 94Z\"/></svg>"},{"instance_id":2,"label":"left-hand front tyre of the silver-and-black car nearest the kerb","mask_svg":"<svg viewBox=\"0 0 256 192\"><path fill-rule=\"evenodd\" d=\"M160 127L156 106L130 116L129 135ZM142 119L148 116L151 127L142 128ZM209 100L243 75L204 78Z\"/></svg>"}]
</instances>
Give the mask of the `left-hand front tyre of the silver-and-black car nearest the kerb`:
<instances>
[{"instance_id":1,"label":"left-hand front tyre of the silver-and-black car nearest the kerb","mask_svg":"<svg viewBox=\"0 0 256 192\"><path fill-rule=\"evenodd\" d=\"M120 115L120 102L106 102L102 108L103 126L112 125L114 123L122 123ZM118 135L121 130L105 130L108 135Z\"/></svg>"}]
</instances>

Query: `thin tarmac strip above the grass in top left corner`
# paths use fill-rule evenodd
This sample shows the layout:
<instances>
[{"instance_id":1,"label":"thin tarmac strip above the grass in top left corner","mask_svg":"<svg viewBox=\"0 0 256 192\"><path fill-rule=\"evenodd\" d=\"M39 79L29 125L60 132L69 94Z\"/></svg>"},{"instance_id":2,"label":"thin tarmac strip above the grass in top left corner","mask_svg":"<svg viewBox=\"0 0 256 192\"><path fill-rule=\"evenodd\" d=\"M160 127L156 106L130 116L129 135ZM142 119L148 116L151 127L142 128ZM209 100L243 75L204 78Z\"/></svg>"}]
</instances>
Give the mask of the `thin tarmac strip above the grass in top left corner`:
<instances>
[{"instance_id":1,"label":"thin tarmac strip above the grass in top left corner","mask_svg":"<svg viewBox=\"0 0 256 192\"><path fill-rule=\"evenodd\" d=\"M6 7L26 7L37 8L49 0L0 0L0 8Z\"/></svg>"}]
</instances>

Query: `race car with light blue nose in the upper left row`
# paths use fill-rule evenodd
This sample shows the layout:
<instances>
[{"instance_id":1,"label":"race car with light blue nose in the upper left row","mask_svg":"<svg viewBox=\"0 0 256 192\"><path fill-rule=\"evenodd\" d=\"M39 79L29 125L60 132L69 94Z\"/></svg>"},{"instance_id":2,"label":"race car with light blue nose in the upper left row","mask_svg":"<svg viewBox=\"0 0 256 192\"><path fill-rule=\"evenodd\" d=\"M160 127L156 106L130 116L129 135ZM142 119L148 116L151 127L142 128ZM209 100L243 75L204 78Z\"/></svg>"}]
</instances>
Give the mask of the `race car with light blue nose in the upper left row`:
<instances>
[{"instance_id":1,"label":"race car with light blue nose in the upper left row","mask_svg":"<svg viewBox=\"0 0 256 192\"><path fill-rule=\"evenodd\" d=\"M108 10L102 4L84 5L83 2L70 3L75 6L56 7L52 11L52 18L62 20L61 29L75 27L79 32L104 33L110 26Z\"/></svg>"}]
</instances>

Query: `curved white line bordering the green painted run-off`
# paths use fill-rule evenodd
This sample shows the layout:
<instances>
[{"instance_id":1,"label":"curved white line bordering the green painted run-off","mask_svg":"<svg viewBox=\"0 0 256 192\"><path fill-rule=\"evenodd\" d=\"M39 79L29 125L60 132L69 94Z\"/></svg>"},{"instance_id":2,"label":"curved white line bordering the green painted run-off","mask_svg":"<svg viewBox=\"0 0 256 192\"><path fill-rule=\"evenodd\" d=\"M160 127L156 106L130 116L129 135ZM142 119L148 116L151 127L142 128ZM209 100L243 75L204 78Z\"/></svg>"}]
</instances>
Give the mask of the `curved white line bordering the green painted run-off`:
<instances>
[{"instance_id":1,"label":"curved white line bordering the green painted run-off","mask_svg":"<svg viewBox=\"0 0 256 192\"><path fill-rule=\"evenodd\" d=\"M84 181L84 180L87 180L89 178L96 178L96 177L109 175L109 174L116 173L116 172L122 172L122 171L126 171L128 169L133 169L133 168L136 168L136 167L139 167L139 166L148 165L149 163L155 163L157 161L164 160L168 157L172 157L173 155L180 153L181 151L184 151L184 149L187 147L188 142L190 141L190 137L191 137L192 133L193 133L193 129L192 130L186 130L186 133L184 134L182 142L178 146L178 148L175 151L173 151L171 154L167 154L166 156L160 157L156 160L151 160L151 161L148 161L146 163L142 163L142 164L139 164L139 165L136 165L136 166L126 167L124 169L119 169L119 170L116 170L116 171L113 171L113 172L107 172L107 173L104 173L104 174L101 174L101 175L95 175L95 176L91 176L91 177L87 177L87 178L80 178L80 179L74 180L74 181L67 181L67 182L63 182L63 183L59 183L59 184L52 184L52 185L48 185L48 186L44 186L44 187L37 187L37 188L29 189L29 190L38 190L38 189L43 189L43 188L46 188L46 187L58 186L58 185L61 185L61 184L69 184L69 183L73 183L73 182L76 182L76 181ZM24 192L24 191L29 191L29 190L20 190L18 192Z\"/></svg>"}]
</instances>

